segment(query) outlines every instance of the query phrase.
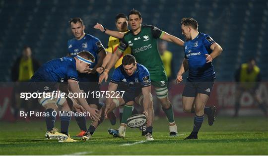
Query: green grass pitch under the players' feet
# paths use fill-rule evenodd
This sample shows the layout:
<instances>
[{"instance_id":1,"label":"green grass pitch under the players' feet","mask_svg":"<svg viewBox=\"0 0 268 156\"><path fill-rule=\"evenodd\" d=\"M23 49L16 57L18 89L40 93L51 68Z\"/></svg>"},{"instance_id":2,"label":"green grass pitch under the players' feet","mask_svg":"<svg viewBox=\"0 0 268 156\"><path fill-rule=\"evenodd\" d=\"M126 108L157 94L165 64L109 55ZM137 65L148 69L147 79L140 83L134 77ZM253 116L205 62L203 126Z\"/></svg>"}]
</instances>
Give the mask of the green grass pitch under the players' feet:
<instances>
[{"instance_id":1,"label":"green grass pitch under the players' feet","mask_svg":"<svg viewBox=\"0 0 268 156\"><path fill-rule=\"evenodd\" d=\"M193 128L193 117L176 118L176 123L179 136L169 137L167 120L155 120L155 140L145 142L138 129L129 127L126 138L113 138L107 129L117 126L105 120L87 142L58 143L45 139L43 120L0 122L0 155L268 155L268 118L218 117L213 126L205 118L198 140L183 140ZM78 130L72 119L70 135Z\"/></svg>"}]
</instances>

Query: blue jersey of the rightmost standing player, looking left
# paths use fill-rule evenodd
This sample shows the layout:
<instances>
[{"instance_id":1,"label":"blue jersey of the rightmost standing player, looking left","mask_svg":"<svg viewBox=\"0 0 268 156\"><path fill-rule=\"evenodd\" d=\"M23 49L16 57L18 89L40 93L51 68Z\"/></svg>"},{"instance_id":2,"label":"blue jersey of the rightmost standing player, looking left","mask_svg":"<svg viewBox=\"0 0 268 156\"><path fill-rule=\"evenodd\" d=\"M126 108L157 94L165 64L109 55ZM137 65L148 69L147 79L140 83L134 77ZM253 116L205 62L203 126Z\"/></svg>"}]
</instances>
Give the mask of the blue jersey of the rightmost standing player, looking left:
<instances>
[{"instance_id":1,"label":"blue jersey of the rightmost standing player, looking left","mask_svg":"<svg viewBox=\"0 0 268 156\"><path fill-rule=\"evenodd\" d=\"M198 36L184 43L185 58L189 64L189 81L206 81L215 79L215 71L212 62L206 63L205 54L210 54L210 46L215 43L206 34Z\"/></svg>"}]
</instances>

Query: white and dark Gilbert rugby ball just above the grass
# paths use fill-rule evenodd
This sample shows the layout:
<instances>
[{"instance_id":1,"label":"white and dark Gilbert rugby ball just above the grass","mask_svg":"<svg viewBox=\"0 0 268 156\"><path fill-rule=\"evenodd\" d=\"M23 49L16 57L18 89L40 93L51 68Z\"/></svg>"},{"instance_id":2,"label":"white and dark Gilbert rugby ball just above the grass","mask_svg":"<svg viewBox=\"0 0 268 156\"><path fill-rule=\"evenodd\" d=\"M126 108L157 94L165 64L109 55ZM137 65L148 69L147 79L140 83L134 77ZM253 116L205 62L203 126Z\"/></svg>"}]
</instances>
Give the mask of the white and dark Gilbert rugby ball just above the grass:
<instances>
[{"instance_id":1,"label":"white and dark Gilbert rugby ball just above the grass","mask_svg":"<svg viewBox=\"0 0 268 156\"><path fill-rule=\"evenodd\" d=\"M127 119L127 125L131 128L138 128L146 124L146 115L134 114Z\"/></svg>"}]
</instances>

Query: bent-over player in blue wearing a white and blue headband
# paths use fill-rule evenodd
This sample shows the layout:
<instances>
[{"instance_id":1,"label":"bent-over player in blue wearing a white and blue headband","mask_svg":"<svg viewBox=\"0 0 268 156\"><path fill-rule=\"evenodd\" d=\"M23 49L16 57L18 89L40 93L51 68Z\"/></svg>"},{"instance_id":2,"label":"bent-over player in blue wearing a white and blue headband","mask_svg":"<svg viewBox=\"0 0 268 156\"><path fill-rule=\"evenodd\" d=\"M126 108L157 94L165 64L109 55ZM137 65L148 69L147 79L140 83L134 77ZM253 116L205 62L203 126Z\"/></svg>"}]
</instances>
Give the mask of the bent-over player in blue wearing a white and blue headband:
<instances>
[{"instance_id":1,"label":"bent-over player in blue wearing a white and blue headband","mask_svg":"<svg viewBox=\"0 0 268 156\"><path fill-rule=\"evenodd\" d=\"M52 95L55 91L60 92L59 82L67 80L68 87L72 93L81 93L79 85L77 83L77 71L83 73L88 70L90 64L94 62L94 56L89 52L80 52L74 58L62 57L48 61L43 64L30 80L30 88L33 92L46 93L46 95ZM54 91L54 92L53 92ZM56 111L58 105L62 107L61 111L70 111L73 107L76 111L81 112L84 109L90 113L92 120L98 121L100 115L97 109L91 108L83 97L76 99L78 104L75 102L73 106L68 105L65 98L54 96L53 98L39 99L39 103L46 108L46 125L47 125L47 138L58 138L59 142L75 142L68 135L68 126L71 116L67 113L61 115L61 133L54 128ZM79 105L80 104L80 105Z\"/></svg>"}]
</instances>

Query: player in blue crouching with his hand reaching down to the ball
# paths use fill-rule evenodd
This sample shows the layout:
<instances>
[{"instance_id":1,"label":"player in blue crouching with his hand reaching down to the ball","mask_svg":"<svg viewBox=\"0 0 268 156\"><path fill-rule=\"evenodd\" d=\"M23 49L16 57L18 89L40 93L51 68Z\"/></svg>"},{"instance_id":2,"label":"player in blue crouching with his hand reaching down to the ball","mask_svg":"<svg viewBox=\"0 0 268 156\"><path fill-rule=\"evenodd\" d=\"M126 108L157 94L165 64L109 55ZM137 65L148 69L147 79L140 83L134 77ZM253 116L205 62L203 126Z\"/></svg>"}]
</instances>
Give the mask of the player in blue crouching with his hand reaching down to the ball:
<instances>
[{"instance_id":1,"label":"player in blue crouching with his hand reaching down to the ball","mask_svg":"<svg viewBox=\"0 0 268 156\"><path fill-rule=\"evenodd\" d=\"M120 98L111 97L106 100L105 116L115 107L124 105L124 113L122 122L118 130L110 129L109 133L125 137L127 119L132 114L133 104L143 104L143 114L147 116L145 136L146 140L153 140L152 124L154 119L154 111L151 96L149 71L141 64L136 63L135 57L127 54L123 57L122 65L115 69L108 91L112 95L115 91L125 91L120 94ZM143 98L143 100L142 100ZM142 102L142 103L141 103Z\"/></svg>"}]
</instances>

